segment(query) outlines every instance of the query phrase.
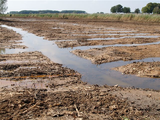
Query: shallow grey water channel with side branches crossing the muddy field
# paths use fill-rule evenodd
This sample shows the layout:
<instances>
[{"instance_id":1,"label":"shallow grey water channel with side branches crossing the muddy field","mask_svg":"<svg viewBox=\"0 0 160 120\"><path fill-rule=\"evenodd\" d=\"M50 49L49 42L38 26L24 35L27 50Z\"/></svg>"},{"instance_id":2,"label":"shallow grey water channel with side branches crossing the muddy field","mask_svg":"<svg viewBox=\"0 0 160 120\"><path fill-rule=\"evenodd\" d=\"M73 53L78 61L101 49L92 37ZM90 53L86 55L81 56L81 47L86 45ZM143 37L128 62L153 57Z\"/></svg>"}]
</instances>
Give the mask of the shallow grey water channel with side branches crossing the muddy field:
<instances>
[{"instance_id":1,"label":"shallow grey water channel with side branches crossing the muddy field","mask_svg":"<svg viewBox=\"0 0 160 120\"><path fill-rule=\"evenodd\" d=\"M44 40L43 37L38 37L32 33L28 33L19 28L9 27L3 25L9 29L13 29L17 33L23 36L22 44L26 45L27 49L1 49L1 54L12 54L25 51L40 51L45 56L50 58L53 62L63 64L64 67L74 69L82 74L82 81L88 82L89 84L98 85L120 85L123 87L134 86L139 88L151 88L160 89L160 79L159 78L140 78L134 75L123 75L120 72L111 70L113 67L118 67L132 63L133 61L118 61L105 63L101 65L92 64L91 61L77 57L70 53L70 51L75 49L90 49L90 48L100 48L109 46L121 46L121 45L106 45L106 46L83 46L75 48L58 48L55 41ZM150 43L159 44L160 42ZM123 46L133 46L124 45ZM146 44L147 45L147 44ZM134 61L160 61L160 58L147 58L143 60Z\"/></svg>"}]
</instances>

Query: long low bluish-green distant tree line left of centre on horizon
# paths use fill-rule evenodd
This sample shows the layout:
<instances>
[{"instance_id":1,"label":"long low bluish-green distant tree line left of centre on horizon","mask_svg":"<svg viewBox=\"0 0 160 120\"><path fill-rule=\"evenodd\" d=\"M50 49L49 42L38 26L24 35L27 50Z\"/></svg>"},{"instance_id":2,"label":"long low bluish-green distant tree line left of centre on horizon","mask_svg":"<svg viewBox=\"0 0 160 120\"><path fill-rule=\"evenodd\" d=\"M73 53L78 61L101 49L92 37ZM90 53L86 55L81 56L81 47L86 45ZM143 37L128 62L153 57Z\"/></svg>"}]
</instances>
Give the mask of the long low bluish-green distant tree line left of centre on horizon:
<instances>
[{"instance_id":1,"label":"long low bluish-green distant tree line left of centre on horizon","mask_svg":"<svg viewBox=\"0 0 160 120\"><path fill-rule=\"evenodd\" d=\"M22 10L22 11L11 11L10 14L52 14L52 13L76 13L76 14L85 14L86 11L82 10Z\"/></svg>"}]
</instances>

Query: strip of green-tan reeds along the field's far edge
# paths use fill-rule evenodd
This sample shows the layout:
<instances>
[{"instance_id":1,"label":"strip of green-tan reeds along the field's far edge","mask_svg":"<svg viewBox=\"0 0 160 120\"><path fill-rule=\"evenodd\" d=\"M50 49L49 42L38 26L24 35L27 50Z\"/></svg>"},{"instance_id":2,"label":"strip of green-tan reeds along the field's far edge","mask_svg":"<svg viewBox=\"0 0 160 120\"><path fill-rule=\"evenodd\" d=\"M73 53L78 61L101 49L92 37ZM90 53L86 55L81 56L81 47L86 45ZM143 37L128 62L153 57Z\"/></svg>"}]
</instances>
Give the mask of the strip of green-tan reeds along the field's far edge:
<instances>
[{"instance_id":1,"label":"strip of green-tan reeds along the field's far edge","mask_svg":"<svg viewBox=\"0 0 160 120\"><path fill-rule=\"evenodd\" d=\"M1 14L0 17L39 17L58 19L98 19L114 21L160 22L158 14Z\"/></svg>"}]
</instances>

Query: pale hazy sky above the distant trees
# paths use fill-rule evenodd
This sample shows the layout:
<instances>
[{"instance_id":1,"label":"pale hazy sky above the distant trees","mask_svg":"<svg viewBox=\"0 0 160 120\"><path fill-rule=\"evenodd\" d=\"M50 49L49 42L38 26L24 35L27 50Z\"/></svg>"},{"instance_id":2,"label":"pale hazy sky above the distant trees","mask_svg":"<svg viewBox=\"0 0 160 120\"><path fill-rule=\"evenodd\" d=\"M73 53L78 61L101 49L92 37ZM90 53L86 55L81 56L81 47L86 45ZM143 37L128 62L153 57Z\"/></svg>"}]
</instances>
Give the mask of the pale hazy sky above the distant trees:
<instances>
[{"instance_id":1,"label":"pale hazy sky above the distant trees","mask_svg":"<svg viewBox=\"0 0 160 120\"><path fill-rule=\"evenodd\" d=\"M87 13L110 13L112 6L121 4L130 7L131 12L136 8L140 10L149 2L160 3L160 0L8 0L10 11L21 10L84 10Z\"/></svg>"}]
</instances>

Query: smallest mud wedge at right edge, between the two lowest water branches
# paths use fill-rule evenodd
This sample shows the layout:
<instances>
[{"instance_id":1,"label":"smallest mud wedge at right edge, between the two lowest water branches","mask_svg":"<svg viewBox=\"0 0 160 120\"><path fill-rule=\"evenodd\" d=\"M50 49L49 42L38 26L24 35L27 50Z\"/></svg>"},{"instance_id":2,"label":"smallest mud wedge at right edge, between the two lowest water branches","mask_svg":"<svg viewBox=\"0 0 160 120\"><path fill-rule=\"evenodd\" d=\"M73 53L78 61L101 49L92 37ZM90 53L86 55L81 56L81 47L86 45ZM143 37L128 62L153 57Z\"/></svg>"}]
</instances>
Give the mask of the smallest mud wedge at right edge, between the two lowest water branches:
<instances>
[{"instance_id":1,"label":"smallest mud wedge at right edge, between the two lowest water branches","mask_svg":"<svg viewBox=\"0 0 160 120\"><path fill-rule=\"evenodd\" d=\"M140 77L160 78L160 62L135 62L113 68L123 74L134 74Z\"/></svg>"}]
</instances>

